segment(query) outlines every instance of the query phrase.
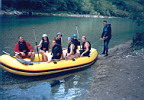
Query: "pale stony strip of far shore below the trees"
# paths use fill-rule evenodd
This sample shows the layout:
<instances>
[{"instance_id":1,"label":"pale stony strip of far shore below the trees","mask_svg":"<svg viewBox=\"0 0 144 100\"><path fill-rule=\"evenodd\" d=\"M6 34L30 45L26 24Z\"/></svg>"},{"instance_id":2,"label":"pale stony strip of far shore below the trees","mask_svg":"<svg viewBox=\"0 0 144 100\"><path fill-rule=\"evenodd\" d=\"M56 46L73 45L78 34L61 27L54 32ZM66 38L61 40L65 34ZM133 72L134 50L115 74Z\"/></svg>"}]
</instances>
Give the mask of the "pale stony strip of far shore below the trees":
<instances>
[{"instance_id":1,"label":"pale stony strip of far shore below the trees","mask_svg":"<svg viewBox=\"0 0 144 100\"><path fill-rule=\"evenodd\" d=\"M65 14L65 13L46 13L46 12L26 12L26 11L1 11L0 15L7 16L20 16L20 17L33 17L33 16L62 16L62 17L84 17L84 18L127 18L127 17L114 17L114 16L102 16L95 14Z\"/></svg>"}]
</instances>

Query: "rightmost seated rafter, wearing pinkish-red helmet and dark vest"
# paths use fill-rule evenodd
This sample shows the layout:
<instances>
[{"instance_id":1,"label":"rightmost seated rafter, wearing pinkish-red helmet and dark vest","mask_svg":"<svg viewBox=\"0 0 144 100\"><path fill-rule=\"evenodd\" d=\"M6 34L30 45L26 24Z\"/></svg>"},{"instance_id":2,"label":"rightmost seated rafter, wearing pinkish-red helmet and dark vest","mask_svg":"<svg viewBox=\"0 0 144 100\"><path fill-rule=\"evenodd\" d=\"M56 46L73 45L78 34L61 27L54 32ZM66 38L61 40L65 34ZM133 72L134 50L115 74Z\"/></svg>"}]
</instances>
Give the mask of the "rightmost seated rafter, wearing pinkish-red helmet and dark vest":
<instances>
[{"instance_id":1,"label":"rightmost seated rafter, wearing pinkish-red helmet and dark vest","mask_svg":"<svg viewBox=\"0 0 144 100\"><path fill-rule=\"evenodd\" d=\"M89 56L91 50L91 44L89 41L86 40L86 36L82 36L82 50L80 51L80 55L82 56Z\"/></svg>"}]
</instances>

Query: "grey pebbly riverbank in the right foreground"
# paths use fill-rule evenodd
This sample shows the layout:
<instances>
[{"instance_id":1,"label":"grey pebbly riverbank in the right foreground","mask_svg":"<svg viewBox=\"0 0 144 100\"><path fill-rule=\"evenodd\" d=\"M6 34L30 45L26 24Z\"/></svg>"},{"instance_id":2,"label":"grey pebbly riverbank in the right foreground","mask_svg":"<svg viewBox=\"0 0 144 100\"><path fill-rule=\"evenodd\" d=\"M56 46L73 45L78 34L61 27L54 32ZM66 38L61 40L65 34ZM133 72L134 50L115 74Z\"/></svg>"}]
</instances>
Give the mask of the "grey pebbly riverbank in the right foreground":
<instances>
[{"instance_id":1,"label":"grey pebbly riverbank in the right foreground","mask_svg":"<svg viewBox=\"0 0 144 100\"><path fill-rule=\"evenodd\" d=\"M144 49L132 50L131 43L110 49L106 58L99 56L85 100L143 100Z\"/></svg>"}]
</instances>

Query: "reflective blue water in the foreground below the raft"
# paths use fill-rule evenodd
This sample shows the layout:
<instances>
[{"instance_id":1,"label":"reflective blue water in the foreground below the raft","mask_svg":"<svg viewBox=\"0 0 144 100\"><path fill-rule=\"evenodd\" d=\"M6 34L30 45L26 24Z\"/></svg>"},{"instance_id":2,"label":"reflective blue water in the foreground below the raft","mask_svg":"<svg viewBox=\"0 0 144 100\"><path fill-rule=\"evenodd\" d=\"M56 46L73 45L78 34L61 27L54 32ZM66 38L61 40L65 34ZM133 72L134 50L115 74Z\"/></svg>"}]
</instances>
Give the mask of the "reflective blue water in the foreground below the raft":
<instances>
[{"instance_id":1,"label":"reflective blue water in the foreground below the raft","mask_svg":"<svg viewBox=\"0 0 144 100\"><path fill-rule=\"evenodd\" d=\"M48 78L48 76L23 77L2 72L4 76L1 76L0 81L0 100L73 100L83 98L89 90L87 85L93 79L90 78L92 69L55 78Z\"/></svg>"}]
</instances>

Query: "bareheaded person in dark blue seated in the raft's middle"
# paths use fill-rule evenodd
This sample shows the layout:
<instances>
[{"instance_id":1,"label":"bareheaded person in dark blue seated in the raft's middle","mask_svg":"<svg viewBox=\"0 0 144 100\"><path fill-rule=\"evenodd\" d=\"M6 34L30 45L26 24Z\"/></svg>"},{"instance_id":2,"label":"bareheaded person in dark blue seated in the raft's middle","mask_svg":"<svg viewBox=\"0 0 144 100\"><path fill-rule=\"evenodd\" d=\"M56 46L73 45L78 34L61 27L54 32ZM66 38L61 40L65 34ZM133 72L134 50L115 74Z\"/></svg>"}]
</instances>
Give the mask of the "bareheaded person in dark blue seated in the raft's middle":
<instances>
[{"instance_id":1,"label":"bareheaded person in dark blue seated in the raft's middle","mask_svg":"<svg viewBox=\"0 0 144 100\"><path fill-rule=\"evenodd\" d=\"M62 47L61 45L59 45L56 41L56 39L54 39L52 41L52 60L54 59L60 59L62 56ZM51 61L48 61L51 62Z\"/></svg>"}]
</instances>

